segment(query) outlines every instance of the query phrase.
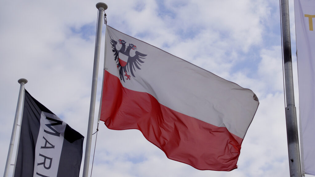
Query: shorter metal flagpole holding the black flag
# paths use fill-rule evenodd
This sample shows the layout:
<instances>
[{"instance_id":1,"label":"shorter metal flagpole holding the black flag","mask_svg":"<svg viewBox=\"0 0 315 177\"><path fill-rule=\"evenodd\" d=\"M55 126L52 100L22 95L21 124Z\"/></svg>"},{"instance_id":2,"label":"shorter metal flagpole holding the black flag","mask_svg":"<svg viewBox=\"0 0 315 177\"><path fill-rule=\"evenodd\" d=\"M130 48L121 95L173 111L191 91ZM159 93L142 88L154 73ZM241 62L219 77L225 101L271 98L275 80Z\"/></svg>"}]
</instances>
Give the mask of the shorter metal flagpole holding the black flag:
<instances>
[{"instance_id":1,"label":"shorter metal flagpole holding the black flag","mask_svg":"<svg viewBox=\"0 0 315 177\"><path fill-rule=\"evenodd\" d=\"M16 105L14 123L13 123L12 134L11 134L11 141L10 141L8 157L7 157L7 163L5 164L3 177L7 177L8 174L9 174L11 157L12 157L12 151L13 151L14 140L15 140L16 125L17 125L17 122L18 122L20 105L21 105L22 96L23 96L23 93L24 93L24 84L27 83L27 80L26 79L19 79L18 83L20 84L20 92L19 92L18 103Z\"/></svg>"}]
</instances>

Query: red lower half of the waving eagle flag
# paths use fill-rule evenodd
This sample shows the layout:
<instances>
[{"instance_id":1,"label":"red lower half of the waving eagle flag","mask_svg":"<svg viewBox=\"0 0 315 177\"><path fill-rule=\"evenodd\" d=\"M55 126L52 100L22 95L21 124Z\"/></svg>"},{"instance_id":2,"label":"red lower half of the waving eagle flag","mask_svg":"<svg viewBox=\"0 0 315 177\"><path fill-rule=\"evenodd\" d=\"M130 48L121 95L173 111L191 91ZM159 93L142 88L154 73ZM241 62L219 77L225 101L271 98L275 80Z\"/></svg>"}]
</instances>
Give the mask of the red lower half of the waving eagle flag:
<instances>
[{"instance_id":1,"label":"red lower half of the waving eagle flag","mask_svg":"<svg viewBox=\"0 0 315 177\"><path fill-rule=\"evenodd\" d=\"M174 111L145 92L124 88L105 71L100 120L114 130L138 129L169 159L200 170L237 168L242 138ZM211 117L211 115L208 115Z\"/></svg>"}]
</instances>

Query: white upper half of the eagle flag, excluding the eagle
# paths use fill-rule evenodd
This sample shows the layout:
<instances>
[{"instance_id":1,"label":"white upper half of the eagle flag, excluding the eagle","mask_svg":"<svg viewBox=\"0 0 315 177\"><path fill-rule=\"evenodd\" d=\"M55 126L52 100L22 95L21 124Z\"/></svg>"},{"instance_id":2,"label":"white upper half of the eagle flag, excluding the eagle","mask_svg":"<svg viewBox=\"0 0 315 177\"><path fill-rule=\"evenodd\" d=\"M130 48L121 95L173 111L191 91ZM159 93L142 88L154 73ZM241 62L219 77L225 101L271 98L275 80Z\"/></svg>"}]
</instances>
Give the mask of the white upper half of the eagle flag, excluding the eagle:
<instances>
[{"instance_id":1,"label":"white upper half of the eagle flag, excluding the eagle","mask_svg":"<svg viewBox=\"0 0 315 177\"><path fill-rule=\"evenodd\" d=\"M140 69L133 65L135 77L127 64L126 74L130 80L123 73L123 87L151 94L172 110L226 127L240 138L245 136L259 104L251 90L107 26L104 69L118 78L118 62L114 60L111 39L117 42L117 50L122 49L120 40L125 42L126 48L136 46L129 48L126 55L133 57L137 52L146 55L141 57L143 63L136 63Z\"/></svg>"}]
</instances>

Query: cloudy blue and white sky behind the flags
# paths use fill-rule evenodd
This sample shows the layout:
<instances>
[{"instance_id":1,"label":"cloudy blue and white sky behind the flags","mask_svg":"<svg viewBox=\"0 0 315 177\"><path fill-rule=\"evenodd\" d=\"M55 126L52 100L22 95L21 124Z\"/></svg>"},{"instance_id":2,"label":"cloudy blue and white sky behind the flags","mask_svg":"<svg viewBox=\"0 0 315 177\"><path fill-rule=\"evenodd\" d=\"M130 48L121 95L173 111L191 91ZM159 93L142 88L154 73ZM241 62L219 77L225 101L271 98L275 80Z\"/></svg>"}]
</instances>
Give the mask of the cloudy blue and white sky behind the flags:
<instances>
[{"instance_id":1,"label":"cloudy blue and white sky behind the flags","mask_svg":"<svg viewBox=\"0 0 315 177\"><path fill-rule=\"evenodd\" d=\"M9 149L20 78L28 80L25 88L33 97L86 136L98 2L12 0L1 3L1 172ZM93 176L289 176L278 1L116 0L104 3L108 5L108 25L250 88L259 98L260 106L243 140L238 169L231 172L200 171L169 160L140 131L109 130L100 122ZM293 0L289 0L289 5L298 110ZM104 39L105 25L93 132L100 103ZM94 143L95 135L92 149Z\"/></svg>"}]
</instances>

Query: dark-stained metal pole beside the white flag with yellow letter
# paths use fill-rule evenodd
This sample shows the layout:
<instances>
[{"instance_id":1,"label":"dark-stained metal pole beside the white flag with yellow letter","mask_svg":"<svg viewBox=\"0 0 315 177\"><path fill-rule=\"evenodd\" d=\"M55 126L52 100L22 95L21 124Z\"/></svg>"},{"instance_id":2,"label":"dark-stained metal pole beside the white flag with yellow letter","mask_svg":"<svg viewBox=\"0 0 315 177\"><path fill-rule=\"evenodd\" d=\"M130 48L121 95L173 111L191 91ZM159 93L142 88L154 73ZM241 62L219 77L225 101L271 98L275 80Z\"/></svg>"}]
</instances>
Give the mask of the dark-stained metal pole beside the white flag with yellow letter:
<instances>
[{"instance_id":1,"label":"dark-stained metal pole beside the white flag with yellow letter","mask_svg":"<svg viewBox=\"0 0 315 177\"><path fill-rule=\"evenodd\" d=\"M281 19L282 19L284 81L285 81L285 98L286 98L285 117L286 117L286 125L287 125L290 176L302 177L299 136L298 136L297 119L296 119L296 108L295 108L295 101L294 101L294 90L293 90L293 72L292 72L288 0L281 0Z\"/></svg>"}]
</instances>

